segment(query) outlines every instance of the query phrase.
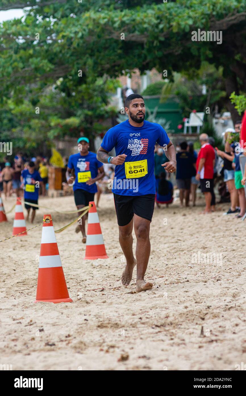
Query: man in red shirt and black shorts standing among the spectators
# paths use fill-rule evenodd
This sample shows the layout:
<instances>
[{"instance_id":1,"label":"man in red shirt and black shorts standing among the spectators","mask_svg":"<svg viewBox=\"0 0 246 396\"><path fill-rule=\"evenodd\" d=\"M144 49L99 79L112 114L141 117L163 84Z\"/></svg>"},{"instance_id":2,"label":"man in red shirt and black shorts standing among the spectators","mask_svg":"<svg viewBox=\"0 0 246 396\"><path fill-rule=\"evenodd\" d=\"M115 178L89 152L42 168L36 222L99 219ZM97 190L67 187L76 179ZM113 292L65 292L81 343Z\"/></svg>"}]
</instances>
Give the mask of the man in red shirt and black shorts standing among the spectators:
<instances>
[{"instance_id":1,"label":"man in red shirt and black shorts standing among the spectators","mask_svg":"<svg viewBox=\"0 0 246 396\"><path fill-rule=\"evenodd\" d=\"M201 133L200 135L201 150L199 151L196 169L197 174L195 178L200 180L201 191L204 192L206 208L204 213L211 212L211 199L212 190L214 188L214 163L215 154L213 147L208 143L207 133Z\"/></svg>"}]
</instances>

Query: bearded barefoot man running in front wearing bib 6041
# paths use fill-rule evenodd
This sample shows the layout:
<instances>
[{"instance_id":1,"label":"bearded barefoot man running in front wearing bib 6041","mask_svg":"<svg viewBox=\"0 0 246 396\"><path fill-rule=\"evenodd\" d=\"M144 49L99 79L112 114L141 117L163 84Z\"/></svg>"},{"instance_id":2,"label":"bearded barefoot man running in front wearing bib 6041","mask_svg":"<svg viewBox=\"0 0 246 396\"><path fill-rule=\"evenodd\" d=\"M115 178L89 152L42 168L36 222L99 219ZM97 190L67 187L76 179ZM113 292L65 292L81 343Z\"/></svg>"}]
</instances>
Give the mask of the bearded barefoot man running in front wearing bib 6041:
<instances>
[{"instance_id":1,"label":"bearded barefoot man running in front wearing bib 6041","mask_svg":"<svg viewBox=\"0 0 246 396\"><path fill-rule=\"evenodd\" d=\"M125 111L128 120L109 129L105 134L97 158L105 164L116 165L113 181L115 209L119 226L119 242L126 257L122 284L131 282L133 268L137 264L136 291L152 289L144 276L150 255L149 231L155 204L156 184L154 176L154 147L156 142L164 147L169 162L162 166L168 172L176 170L176 154L173 143L159 125L145 121L143 97L131 94L126 98ZM109 156L115 147L116 156ZM132 230L137 238L136 259L133 256Z\"/></svg>"}]
</instances>

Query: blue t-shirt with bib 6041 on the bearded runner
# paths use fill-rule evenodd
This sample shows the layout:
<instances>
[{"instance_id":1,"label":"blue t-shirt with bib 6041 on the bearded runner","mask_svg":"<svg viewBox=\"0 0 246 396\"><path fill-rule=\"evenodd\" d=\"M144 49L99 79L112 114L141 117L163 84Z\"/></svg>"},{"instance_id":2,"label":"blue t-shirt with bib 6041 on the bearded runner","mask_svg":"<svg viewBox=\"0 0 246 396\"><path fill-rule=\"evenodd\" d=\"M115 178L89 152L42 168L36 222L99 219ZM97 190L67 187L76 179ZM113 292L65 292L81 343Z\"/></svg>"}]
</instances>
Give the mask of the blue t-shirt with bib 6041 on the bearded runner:
<instances>
[{"instance_id":1,"label":"blue t-shirt with bib 6041 on the bearded runner","mask_svg":"<svg viewBox=\"0 0 246 396\"><path fill-rule=\"evenodd\" d=\"M115 147L116 156L126 154L123 165L116 165L112 191L119 195L155 194L154 146L168 145L170 139L159 124L145 121L132 126L129 120L109 129L101 147L108 152Z\"/></svg>"}]
</instances>

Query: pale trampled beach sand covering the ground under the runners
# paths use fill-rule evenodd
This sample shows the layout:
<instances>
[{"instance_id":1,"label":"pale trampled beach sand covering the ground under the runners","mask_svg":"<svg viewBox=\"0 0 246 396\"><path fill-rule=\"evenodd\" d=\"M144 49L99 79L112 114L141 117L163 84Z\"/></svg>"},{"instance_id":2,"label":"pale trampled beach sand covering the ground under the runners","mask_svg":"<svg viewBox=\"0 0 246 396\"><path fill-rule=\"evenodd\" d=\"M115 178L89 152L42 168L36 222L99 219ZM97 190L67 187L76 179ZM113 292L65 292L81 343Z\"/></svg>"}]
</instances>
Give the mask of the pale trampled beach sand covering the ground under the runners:
<instances>
[{"instance_id":1,"label":"pale trampled beach sand covering the ground under the runners","mask_svg":"<svg viewBox=\"0 0 246 396\"><path fill-rule=\"evenodd\" d=\"M14 202L4 200L6 211ZM75 208L73 197L39 204ZM84 260L75 226L56 234L73 303L34 304L41 227L0 244L0 364L13 370L235 370L246 362L246 221L223 216L228 204L210 215L199 214L202 206L156 208L146 273L154 287L136 294L136 270L130 286L120 282L124 256L113 199L101 196L100 206L109 259ZM39 209L36 224L44 213L53 215L55 229L75 218ZM0 240L12 234L13 217L0 224ZM198 251L222 254L222 265L192 264ZM126 360L118 361L122 355Z\"/></svg>"}]
</instances>

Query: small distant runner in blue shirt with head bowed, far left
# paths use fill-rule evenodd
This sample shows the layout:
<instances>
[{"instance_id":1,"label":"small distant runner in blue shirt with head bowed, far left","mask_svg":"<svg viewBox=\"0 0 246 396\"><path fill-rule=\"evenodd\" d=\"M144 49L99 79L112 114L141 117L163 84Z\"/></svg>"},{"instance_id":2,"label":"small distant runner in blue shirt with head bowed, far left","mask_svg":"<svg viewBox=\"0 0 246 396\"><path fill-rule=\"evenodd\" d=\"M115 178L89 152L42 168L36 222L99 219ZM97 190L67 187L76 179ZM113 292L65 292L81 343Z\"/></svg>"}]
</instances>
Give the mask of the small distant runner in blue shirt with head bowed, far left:
<instances>
[{"instance_id":1,"label":"small distant runner in blue shirt with head bowed, far left","mask_svg":"<svg viewBox=\"0 0 246 396\"><path fill-rule=\"evenodd\" d=\"M39 187L43 182L38 171L35 170L34 162L30 161L27 169L22 171L21 183L21 187L24 187L24 201L38 205ZM31 223L33 223L38 207L25 204L25 208L27 210L26 221L29 219L30 210L32 208Z\"/></svg>"}]
</instances>

